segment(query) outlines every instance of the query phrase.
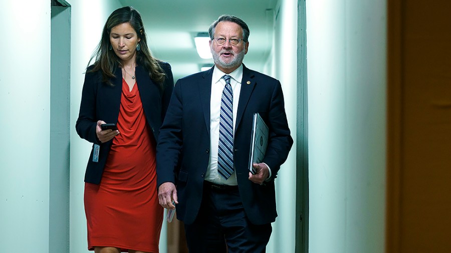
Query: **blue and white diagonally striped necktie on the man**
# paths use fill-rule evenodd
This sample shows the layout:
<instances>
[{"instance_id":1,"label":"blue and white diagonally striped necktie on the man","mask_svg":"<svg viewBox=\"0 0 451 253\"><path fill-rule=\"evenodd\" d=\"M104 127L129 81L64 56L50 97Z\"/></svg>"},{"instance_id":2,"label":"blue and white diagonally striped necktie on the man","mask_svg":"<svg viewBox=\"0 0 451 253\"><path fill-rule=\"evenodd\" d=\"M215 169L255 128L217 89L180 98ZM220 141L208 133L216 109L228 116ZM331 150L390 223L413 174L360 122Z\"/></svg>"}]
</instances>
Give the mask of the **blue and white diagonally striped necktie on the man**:
<instances>
[{"instance_id":1,"label":"blue and white diagonally striped necktie on the man","mask_svg":"<svg viewBox=\"0 0 451 253\"><path fill-rule=\"evenodd\" d=\"M222 78L225 80L225 87L221 98L217 171L228 179L234 172L234 93L230 85L230 75L225 74Z\"/></svg>"}]
</instances>

